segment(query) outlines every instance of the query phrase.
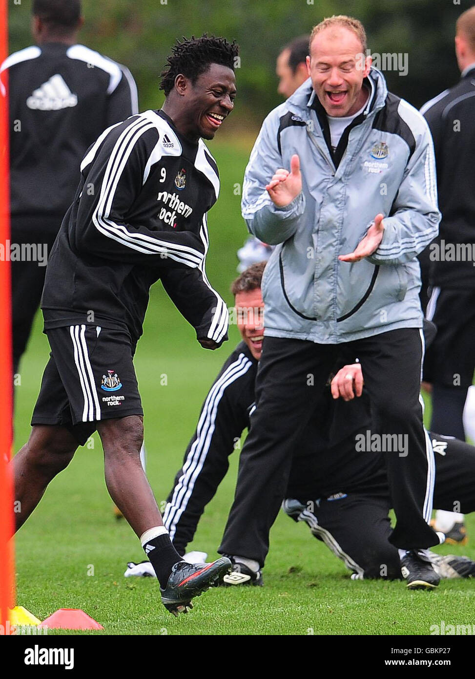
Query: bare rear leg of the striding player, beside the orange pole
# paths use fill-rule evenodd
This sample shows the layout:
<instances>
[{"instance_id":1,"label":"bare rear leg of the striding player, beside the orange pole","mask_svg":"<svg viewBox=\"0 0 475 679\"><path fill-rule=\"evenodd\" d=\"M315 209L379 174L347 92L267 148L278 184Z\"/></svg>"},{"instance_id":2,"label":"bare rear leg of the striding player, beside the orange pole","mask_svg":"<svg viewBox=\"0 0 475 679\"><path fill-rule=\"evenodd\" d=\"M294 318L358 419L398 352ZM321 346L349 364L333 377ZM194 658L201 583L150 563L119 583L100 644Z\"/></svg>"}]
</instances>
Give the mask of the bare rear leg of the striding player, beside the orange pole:
<instances>
[{"instance_id":1,"label":"bare rear leg of the striding player, beside the orange pole","mask_svg":"<svg viewBox=\"0 0 475 679\"><path fill-rule=\"evenodd\" d=\"M13 458L15 479L16 530L20 528L43 497L46 486L65 469L78 447L76 439L64 426L36 424L30 438Z\"/></svg>"}]
</instances>

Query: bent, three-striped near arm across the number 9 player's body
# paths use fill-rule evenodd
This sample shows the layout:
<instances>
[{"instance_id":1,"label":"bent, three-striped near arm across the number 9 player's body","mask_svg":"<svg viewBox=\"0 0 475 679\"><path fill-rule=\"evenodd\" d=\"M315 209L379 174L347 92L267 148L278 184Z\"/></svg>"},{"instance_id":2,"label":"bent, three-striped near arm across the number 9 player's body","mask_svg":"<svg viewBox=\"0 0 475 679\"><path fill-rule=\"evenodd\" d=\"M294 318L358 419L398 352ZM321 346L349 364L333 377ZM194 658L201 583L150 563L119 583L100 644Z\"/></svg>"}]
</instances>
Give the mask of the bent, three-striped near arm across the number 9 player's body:
<instances>
[{"instance_id":1,"label":"bent, three-striped near arm across the number 9 player's body","mask_svg":"<svg viewBox=\"0 0 475 679\"><path fill-rule=\"evenodd\" d=\"M83 185L70 232L77 253L161 267L202 265L205 245L197 234L155 231L128 221L157 141L155 126L136 119L106 130L88 151L81 164Z\"/></svg>"}]
</instances>

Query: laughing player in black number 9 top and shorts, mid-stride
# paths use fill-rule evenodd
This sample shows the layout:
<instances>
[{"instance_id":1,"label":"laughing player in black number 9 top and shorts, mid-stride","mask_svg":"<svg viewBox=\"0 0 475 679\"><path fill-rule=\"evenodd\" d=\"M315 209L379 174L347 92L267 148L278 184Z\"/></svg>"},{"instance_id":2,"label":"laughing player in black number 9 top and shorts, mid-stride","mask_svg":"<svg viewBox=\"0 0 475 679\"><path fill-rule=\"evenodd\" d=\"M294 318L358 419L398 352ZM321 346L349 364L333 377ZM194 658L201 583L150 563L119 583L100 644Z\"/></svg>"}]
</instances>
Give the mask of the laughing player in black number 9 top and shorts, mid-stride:
<instances>
[{"instance_id":1,"label":"laughing player in black number 9 top and shorts, mid-stride","mask_svg":"<svg viewBox=\"0 0 475 679\"><path fill-rule=\"evenodd\" d=\"M174 614L230 562L193 570L170 542L140 464L143 411L133 356L149 288L159 279L202 346L227 339L227 308L205 273L207 212L219 179L202 137L213 139L233 109L236 56L237 45L223 38L176 43L161 74L164 107L108 128L83 158L41 300L51 358L30 439L13 461L19 528L97 429L107 489L140 537Z\"/></svg>"}]
</instances>

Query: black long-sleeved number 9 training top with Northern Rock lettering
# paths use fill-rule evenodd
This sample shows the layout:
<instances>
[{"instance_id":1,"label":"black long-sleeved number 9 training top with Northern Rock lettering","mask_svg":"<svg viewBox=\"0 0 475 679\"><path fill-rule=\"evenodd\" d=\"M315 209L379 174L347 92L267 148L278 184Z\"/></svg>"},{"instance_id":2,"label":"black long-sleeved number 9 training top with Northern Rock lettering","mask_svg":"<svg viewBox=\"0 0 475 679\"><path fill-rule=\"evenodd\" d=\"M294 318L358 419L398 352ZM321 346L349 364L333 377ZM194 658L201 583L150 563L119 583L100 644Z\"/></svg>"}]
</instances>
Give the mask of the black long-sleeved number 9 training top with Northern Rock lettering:
<instances>
[{"instance_id":1,"label":"black long-sleeved number 9 training top with Northern Rock lettering","mask_svg":"<svg viewBox=\"0 0 475 679\"><path fill-rule=\"evenodd\" d=\"M48 262L45 330L98 325L128 331L135 344L160 278L197 337L221 344L227 308L204 270L206 213L218 191L203 141L187 141L163 111L103 132L83 159Z\"/></svg>"}]
</instances>

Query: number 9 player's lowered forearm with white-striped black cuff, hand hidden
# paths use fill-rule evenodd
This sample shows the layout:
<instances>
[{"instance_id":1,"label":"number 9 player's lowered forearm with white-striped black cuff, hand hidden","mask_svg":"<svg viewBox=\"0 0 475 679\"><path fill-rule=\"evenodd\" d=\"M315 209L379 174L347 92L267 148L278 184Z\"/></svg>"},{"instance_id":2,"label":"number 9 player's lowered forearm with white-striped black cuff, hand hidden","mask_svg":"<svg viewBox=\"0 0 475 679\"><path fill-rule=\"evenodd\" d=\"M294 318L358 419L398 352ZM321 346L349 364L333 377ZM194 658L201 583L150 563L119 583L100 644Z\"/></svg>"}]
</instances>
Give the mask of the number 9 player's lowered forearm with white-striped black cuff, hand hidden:
<instances>
[{"instance_id":1,"label":"number 9 player's lowered forearm with white-striped black cuff, hand hidden","mask_svg":"<svg viewBox=\"0 0 475 679\"><path fill-rule=\"evenodd\" d=\"M226 305L199 268L170 269L161 276L161 282L180 314L195 329L198 342L206 346L209 340L212 346L207 348L218 348L228 339Z\"/></svg>"}]
</instances>

